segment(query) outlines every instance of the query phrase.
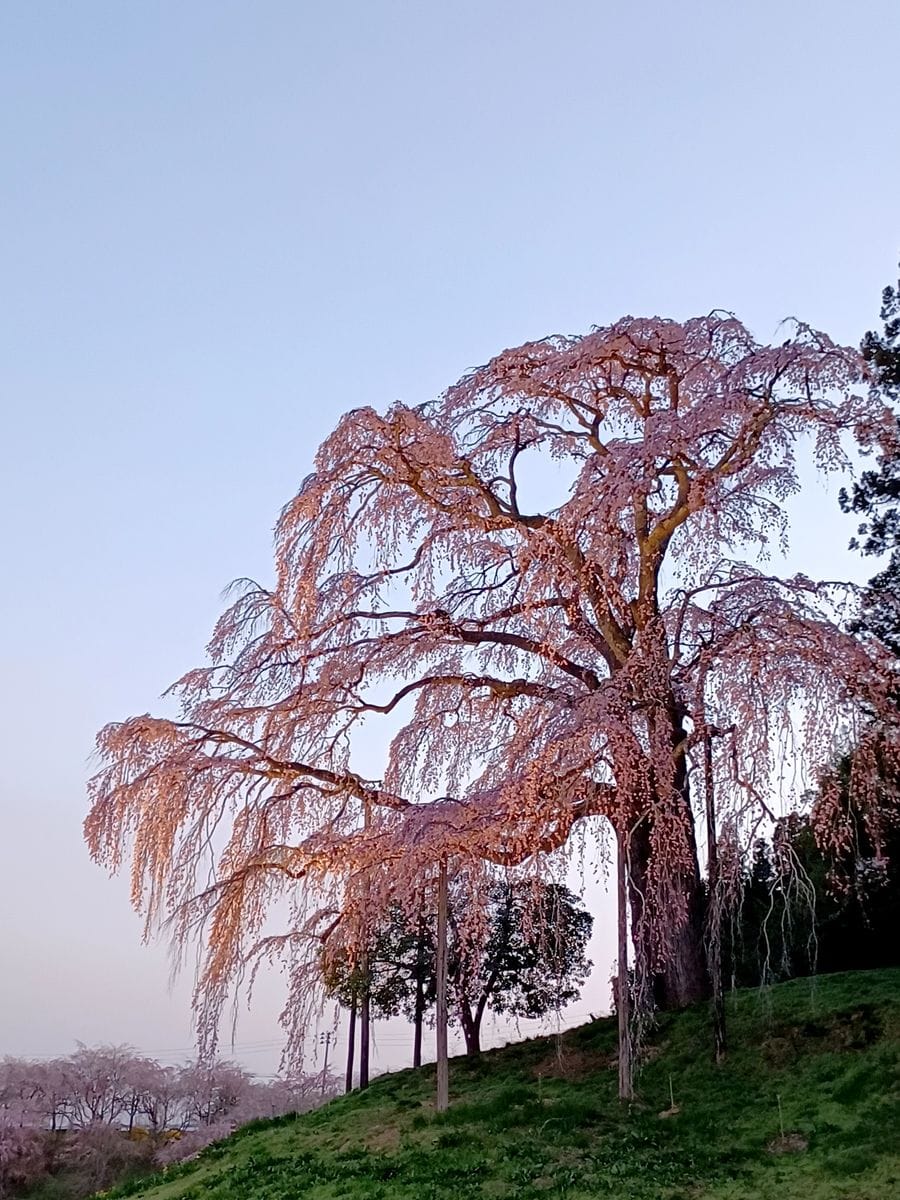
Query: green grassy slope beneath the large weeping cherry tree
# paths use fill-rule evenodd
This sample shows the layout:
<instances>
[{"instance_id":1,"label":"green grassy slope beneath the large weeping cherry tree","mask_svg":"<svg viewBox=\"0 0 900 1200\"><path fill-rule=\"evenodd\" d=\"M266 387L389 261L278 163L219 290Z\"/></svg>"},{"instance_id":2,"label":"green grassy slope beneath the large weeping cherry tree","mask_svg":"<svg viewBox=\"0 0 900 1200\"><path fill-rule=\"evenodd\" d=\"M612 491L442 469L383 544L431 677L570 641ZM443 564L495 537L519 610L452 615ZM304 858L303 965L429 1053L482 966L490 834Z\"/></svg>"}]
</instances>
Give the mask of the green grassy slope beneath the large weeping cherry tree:
<instances>
[{"instance_id":1,"label":"green grassy slope beneath the large weeping cherry tree","mask_svg":"<svg viewBox=\"0 0 900 1200\"><path fill-rule=\"evenodd\" d=\"M613 1021L377 1079L239 1130L130 1193L146 1200L890 1200L900 1198L900 971L794 980L666 1014L640 1099L616 1099ZM674 1105L670 1098L670 1079Z\"/></svg>"}]
</instances>

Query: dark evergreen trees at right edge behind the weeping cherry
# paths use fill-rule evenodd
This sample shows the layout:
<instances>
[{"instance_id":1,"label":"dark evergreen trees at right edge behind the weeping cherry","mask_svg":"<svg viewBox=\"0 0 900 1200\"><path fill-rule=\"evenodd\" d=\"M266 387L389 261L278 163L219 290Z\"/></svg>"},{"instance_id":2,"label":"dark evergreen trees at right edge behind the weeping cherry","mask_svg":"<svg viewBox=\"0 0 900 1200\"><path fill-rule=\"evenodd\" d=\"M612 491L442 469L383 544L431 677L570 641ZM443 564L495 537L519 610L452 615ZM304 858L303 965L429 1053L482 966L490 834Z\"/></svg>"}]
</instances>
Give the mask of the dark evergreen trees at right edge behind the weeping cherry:
<instances>
[{"instance_id":1,"label":"dark evergreen trees at right edge behind the weeping cherry","mask_svg":"<svg viewBox=\"0 0 900 1200\"><path fill-rule=\"evenodd\" d=\"M880 316L882 328L870 330L860 348L870 384L899 414L900 282L884 288ZM850 628L862 638L878 638L900 666L900 420L893 437L874 449L875 466L840 494L844 511L860 518L851 546L881 559ZM728 931L738 986L900 965L900 780L886 762L880 798L886 820L876 844L847 800L850 769L845 760L838 772L850 852L829 857L817 846L815 803L812 816L781 818L772 840L754 846Z\"/></svg>"}]
</instances>

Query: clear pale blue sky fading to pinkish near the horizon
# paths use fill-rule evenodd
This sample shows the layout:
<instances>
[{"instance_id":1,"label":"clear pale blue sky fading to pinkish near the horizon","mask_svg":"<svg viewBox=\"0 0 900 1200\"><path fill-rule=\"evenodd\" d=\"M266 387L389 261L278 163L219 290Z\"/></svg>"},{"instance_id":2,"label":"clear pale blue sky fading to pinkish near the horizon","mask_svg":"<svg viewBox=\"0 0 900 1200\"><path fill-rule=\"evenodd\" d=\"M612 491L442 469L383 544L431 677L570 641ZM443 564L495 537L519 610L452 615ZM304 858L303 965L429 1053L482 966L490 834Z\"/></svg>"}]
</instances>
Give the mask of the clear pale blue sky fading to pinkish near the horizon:
<instances>
[{"instance_id":1,"label":"clear pale blue sky fading to pinkish near the horizon","mask_svg":"<svg viewBox=\"0 0 900 1200\"><path fill-rule=\"evenodd\" d=\"M0 5L0 1054L190 1049L80 840L92 737L268 577L338 414L623 313L857 342L899 58L896 0ZM800 508L800 565L859 575ZM236 1056L268 1070L263 998Z\"/></svg>"}]
</instances>

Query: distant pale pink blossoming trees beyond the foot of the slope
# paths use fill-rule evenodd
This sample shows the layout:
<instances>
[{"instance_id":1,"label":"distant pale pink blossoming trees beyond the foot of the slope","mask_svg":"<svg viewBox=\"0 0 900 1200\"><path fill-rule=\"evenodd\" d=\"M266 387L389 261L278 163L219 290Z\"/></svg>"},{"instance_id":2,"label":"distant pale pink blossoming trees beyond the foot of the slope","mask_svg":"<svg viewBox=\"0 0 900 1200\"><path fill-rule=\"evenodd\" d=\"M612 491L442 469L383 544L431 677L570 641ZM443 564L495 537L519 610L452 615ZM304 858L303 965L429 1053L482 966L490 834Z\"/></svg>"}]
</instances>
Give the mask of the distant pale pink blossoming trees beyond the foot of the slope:
<instances>
[{"instance_id":1,"label":"distant pale pink blossoming trees beyond the foot of the slope","mask_svg":"<svg viewBox=\"0 0 900 1200\"><path fill-rule=\"evenodd\" d=\"M264 1082L230 1062L166 1067L130 1046L4 1058L0 1196L85 1196L335 1092L322 1072Z\"/></svg>"}]
</instances>

